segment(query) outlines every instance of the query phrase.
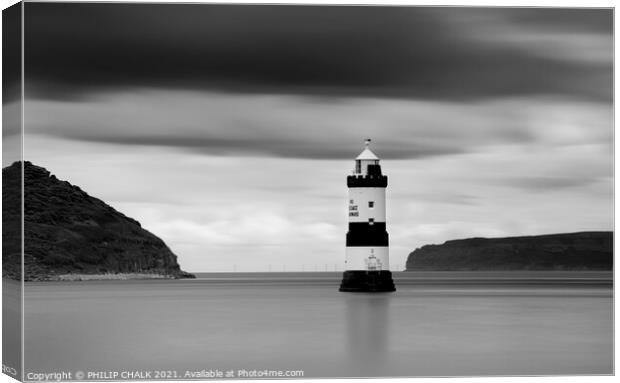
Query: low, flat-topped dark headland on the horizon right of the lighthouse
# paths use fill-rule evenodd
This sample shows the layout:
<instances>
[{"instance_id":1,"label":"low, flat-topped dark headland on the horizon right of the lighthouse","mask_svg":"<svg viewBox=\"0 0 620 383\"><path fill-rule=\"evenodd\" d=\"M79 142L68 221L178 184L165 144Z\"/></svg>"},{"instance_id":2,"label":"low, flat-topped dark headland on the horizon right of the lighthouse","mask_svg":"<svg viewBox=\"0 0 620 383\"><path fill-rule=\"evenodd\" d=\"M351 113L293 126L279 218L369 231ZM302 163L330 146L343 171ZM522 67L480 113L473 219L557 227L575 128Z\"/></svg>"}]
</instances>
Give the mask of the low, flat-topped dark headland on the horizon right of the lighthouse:
<instances>
[{"instance_id":1,"label":"low, flat-topped dark headland on the horizon right of the lighthouse","mask_svg":"<svg viewBox=\"0 0 620 383\"><path fill-rule=\"evenodd\" d=\"M407 270L611 270L613 232L469 238L426 245Z\"/></svg>"}]
</instances>

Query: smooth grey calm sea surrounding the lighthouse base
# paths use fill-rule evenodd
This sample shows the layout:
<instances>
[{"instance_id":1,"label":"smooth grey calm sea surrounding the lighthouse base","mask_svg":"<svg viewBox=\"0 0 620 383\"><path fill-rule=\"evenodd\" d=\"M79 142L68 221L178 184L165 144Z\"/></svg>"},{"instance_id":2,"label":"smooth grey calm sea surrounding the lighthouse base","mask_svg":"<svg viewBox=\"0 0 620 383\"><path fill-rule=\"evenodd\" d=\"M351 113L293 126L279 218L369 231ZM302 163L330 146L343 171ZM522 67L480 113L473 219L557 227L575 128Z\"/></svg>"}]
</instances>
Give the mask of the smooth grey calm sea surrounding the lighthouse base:
<instances>
[{"instance_id":1,"label":"smooth grey calm sea surrounding the lighthouse base","mask_svg":"<svg viewBox=\"0 0 620 383\"><path fill-rule=\"evenodd\" d=\"M27 283L25 372L301 370L304 377L611 374L612 275L339 273Z\"/></svg>"}]
</instances>

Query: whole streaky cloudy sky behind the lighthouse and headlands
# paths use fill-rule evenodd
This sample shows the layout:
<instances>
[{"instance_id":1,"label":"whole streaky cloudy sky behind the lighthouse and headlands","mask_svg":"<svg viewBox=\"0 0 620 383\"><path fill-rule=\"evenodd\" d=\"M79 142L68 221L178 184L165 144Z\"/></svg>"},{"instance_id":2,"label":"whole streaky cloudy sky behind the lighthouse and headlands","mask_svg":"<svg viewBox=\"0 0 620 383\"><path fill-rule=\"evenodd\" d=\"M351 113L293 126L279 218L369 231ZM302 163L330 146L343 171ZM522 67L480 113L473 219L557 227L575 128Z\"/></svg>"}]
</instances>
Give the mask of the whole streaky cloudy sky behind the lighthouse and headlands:
<instances>
[{"instance_id":1,"label":"whole streaky cloudy sky behind the lighthouse and headlands","mask_svg":"<svg viewBox=\"0 0 620 383\"><path fill-rule=\"evenodd\" d=\"M25 159L185 270L341 269L366 137L393 269L427 243L613 228L609 9L25 7Z\"/></svg>"}]
</instances>

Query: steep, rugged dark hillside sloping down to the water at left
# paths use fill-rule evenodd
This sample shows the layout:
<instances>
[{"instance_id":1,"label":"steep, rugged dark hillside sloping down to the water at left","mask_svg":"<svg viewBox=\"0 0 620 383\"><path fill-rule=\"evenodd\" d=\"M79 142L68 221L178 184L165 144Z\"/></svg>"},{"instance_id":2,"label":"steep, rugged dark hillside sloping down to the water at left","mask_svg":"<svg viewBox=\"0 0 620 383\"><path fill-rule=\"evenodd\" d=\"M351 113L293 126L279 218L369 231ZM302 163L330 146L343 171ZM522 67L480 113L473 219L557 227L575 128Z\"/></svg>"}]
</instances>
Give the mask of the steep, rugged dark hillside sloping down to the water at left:
<instances>
[{"instance_id":1,"label":"steep, rugged dark hillside sloping down to the water at left","mask_svg":"<svg viewBox=\"0 0 620 383\"><path fill-rule=\"evenodd\" d=\"M2 169L3 277L20 278L21 162ZM144 273L191 278L140 223L24 163L25 280L64 274Z\"/></svg>"}]
</instances>

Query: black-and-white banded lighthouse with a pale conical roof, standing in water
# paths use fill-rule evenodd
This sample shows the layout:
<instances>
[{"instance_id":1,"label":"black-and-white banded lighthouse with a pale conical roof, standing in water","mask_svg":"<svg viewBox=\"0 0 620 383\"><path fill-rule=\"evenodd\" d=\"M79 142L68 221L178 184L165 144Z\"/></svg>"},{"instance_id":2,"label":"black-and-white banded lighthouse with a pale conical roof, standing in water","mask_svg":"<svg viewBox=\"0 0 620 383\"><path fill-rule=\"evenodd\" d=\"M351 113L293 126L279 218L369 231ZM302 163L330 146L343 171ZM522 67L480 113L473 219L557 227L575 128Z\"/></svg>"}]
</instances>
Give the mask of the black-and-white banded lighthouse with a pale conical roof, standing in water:
<instances>
[{"instance_id":1,"label":"black-and-white banded lighthouse with a pale conical roof, standing in water","mask_svg":"<svg viewBox=\"0 0 620 383\"><path fill-rule=\"evenodd\" d=\"M379 157L370 150L370 139L355 159L347 186L349 231L340 291L396 291L390 272L385 221L387 176L381 173Z\"/></svg>"}]
</instances>

